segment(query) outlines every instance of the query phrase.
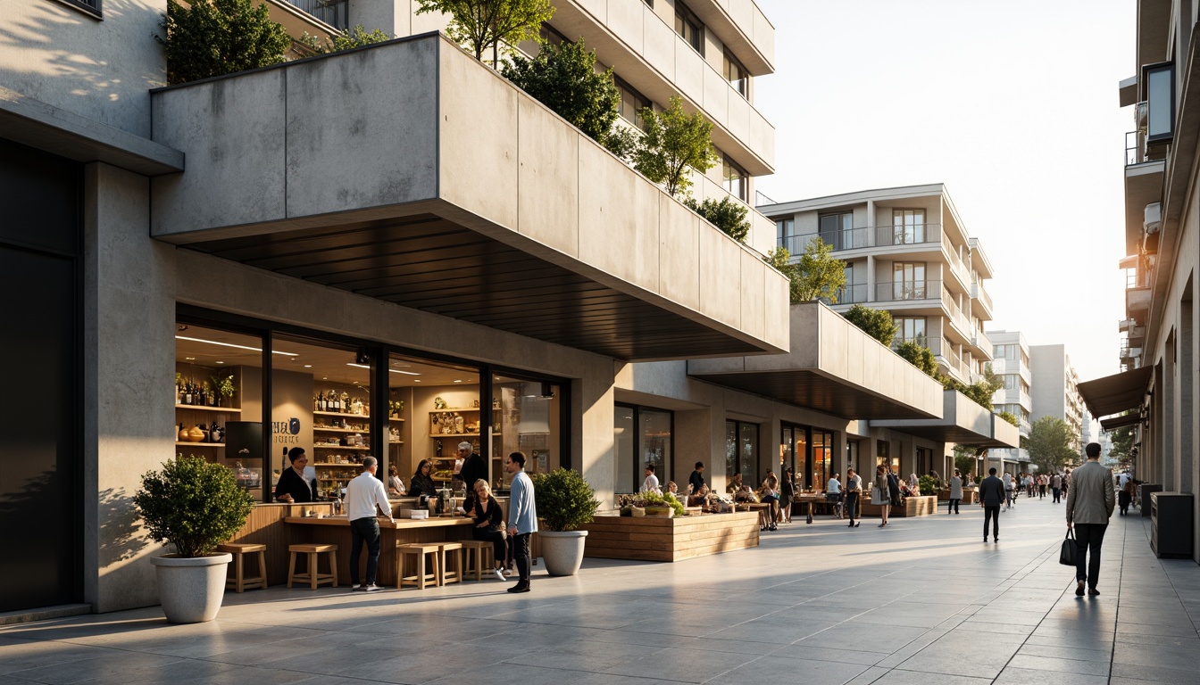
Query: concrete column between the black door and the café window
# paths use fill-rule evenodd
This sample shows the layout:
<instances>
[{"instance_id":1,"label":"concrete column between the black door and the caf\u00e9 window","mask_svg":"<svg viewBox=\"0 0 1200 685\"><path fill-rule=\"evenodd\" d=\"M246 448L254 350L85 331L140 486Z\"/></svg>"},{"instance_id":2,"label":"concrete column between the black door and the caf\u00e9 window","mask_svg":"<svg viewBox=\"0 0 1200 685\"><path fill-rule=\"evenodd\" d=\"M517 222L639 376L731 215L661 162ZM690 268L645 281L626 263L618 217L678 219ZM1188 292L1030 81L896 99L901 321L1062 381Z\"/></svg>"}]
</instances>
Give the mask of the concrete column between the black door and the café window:
<instances>
[{"instance_id":1,"label":"concrete column between the black door and the caf\u00e9 window","mask_svg":"<svg viewBox=\"0 0 1200 685\"><path fill-rule=\"evenodd\" d=\"M132 497L175 456L175 248L149 238L149 179L84 179L84 599L106 612L158 603Z\"/></svg>"}]
</instances>

